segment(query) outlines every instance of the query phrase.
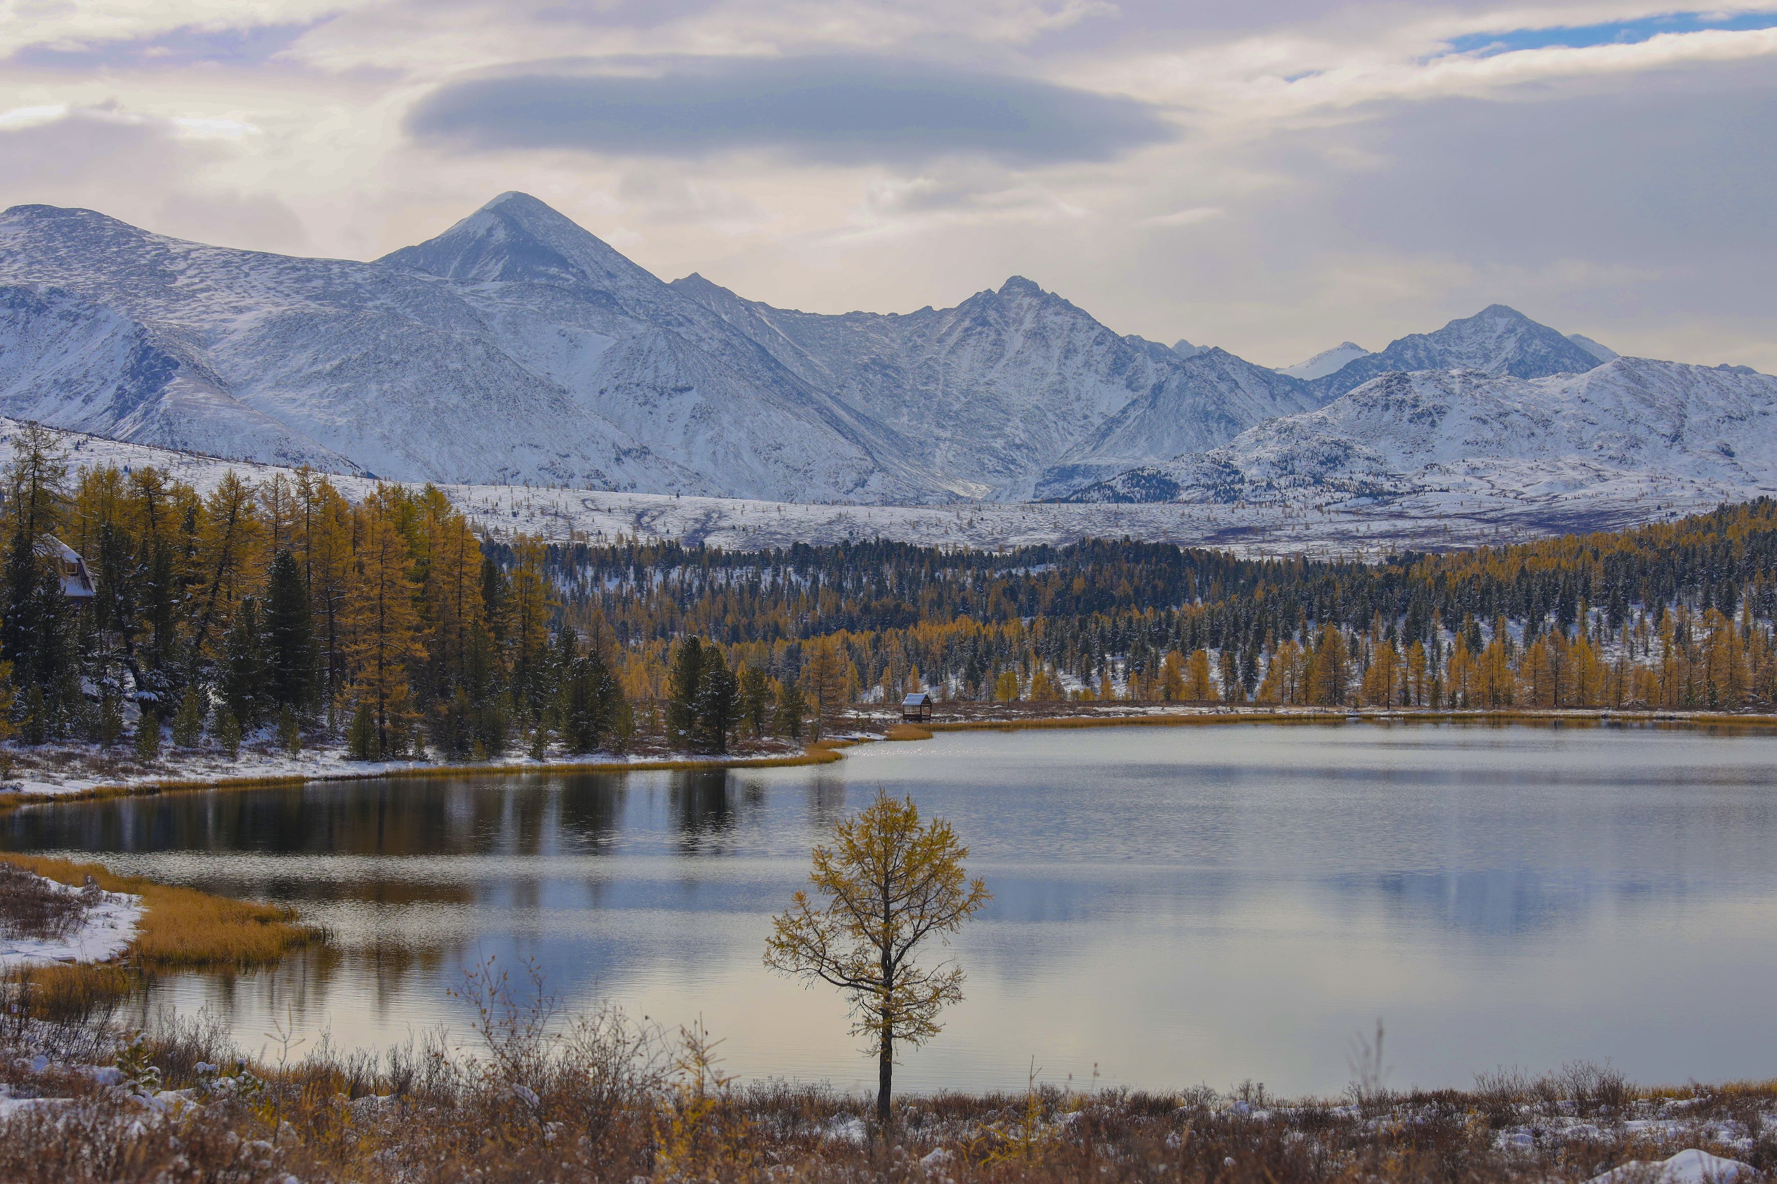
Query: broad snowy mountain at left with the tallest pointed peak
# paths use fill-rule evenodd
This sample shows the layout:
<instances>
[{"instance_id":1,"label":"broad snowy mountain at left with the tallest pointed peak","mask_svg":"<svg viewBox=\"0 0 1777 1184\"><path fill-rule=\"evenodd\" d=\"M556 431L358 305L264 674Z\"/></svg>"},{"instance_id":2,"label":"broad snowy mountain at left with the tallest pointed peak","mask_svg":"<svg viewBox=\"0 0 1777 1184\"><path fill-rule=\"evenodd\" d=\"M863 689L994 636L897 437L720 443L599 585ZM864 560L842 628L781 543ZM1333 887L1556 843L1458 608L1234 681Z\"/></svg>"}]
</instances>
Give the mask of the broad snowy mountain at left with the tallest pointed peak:
<instances>
[{"instance_id":1,"label":"broad snowy mountain at left with the tallest pointed peak","mask_svg":"<svg viewBox=\"0 0 1777 1184\"><path fill-rule=\"evenodd\" d=\"M233 399L181 405L178 438L121 405L80 419L53 399L9 405L44 422L286 458L245 447L217 412L240 407L396 478L791 499L945 492L896 454L892 433L522 195L389 263L224 250L21 206L0 215L0 280L53 284L135 321L179 378ZM16 367L9 382L43 385Z\"/></svg>"}]
</instances>

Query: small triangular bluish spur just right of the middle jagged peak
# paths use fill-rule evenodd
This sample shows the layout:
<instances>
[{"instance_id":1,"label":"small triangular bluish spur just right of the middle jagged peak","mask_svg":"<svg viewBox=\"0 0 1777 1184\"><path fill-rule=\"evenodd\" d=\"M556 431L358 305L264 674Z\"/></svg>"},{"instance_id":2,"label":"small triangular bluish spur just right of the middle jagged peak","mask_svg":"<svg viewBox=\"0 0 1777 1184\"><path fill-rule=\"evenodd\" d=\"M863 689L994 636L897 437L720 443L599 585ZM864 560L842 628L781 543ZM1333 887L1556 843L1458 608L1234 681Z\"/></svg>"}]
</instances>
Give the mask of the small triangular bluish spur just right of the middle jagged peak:
<instances>
[{"instance_id":1,"label":"small triangular bluish spur just right of the middle jagged peak","mask_svg":"<svg viewBox=\"0 0 1777 1184\"><path fill-rule=\"evenodd\" d=\"M1308 383L1212 346L1075 444L1043 474L1038 493L1059 497L1136 465L1201 453L1320 403Z\"/></svg>"}]
</instances>

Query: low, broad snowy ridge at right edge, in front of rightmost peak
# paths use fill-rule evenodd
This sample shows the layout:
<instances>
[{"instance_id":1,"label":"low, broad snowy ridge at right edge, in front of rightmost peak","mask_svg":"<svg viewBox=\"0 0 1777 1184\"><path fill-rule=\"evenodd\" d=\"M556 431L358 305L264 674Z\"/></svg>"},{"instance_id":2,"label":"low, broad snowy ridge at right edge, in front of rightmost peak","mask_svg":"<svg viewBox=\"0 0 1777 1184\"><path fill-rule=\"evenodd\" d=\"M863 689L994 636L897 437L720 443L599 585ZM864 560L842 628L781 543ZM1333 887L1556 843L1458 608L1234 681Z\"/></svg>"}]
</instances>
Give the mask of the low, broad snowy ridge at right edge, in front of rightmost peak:
<instances>
[{"instance_id":1,"label":"low, broad snowy ridge at right edge, in front of rightmost peak","mask_svg":"<svg viewBox=\"0 0 1777 1184\"><path fill-rule=\"evenodd\" d=\"M1583 375L1391 373L1230 444L1120 474L1079 501L1386 501L1452 483L1544 481L1564 493L1638 481L1777 490L1777 378L1617 359ZM1526 476L1528 474L1528 476Z\"/></svg>"}]
</instances>

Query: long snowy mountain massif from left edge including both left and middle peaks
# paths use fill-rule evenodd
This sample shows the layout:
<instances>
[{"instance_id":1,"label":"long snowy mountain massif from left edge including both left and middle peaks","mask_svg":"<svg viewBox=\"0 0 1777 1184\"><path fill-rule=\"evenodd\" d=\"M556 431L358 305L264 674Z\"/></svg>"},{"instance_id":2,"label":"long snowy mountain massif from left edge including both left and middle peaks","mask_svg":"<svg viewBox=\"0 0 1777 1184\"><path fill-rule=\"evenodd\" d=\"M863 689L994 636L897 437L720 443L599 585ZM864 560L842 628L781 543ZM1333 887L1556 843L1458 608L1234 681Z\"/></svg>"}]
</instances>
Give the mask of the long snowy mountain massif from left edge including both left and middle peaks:
<instances>
[{"instance_id":1,"label":"long snowy mountain massif from left edge including both left and middle peaks","mask_svg":"<svg viewBox=\"0 0 1777 1184\"><path fill-rule=\"evenodd\" d=\"M665 284L522 193L375 263L18 206L0 286L0 414L400 479L1022 499L1313 405L1018 277L904 316Z\"/></svg>"}]
</instances>

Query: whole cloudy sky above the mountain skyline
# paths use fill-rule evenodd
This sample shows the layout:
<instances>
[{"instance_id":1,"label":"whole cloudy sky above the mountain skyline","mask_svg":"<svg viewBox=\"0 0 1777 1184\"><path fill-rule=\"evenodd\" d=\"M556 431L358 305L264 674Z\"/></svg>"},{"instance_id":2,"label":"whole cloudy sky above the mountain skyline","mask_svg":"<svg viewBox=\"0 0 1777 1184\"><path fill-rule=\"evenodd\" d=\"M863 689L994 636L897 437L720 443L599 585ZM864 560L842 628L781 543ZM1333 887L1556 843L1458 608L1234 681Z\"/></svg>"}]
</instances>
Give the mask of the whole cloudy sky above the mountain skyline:
<instances>
[{"instance_id":1,"label":"whole cloudy sky above the mountain skyline","mask_svg":"<svg viewBox=\"0 0 1777 1184\"><path fill-rule=\"evenodd\" d=\"M1777 373L1777 0L0 4L0 206L373 259L506 190L817 312Z\"/></svg>"}]
</instances>

